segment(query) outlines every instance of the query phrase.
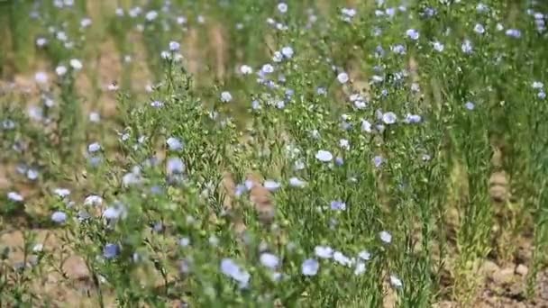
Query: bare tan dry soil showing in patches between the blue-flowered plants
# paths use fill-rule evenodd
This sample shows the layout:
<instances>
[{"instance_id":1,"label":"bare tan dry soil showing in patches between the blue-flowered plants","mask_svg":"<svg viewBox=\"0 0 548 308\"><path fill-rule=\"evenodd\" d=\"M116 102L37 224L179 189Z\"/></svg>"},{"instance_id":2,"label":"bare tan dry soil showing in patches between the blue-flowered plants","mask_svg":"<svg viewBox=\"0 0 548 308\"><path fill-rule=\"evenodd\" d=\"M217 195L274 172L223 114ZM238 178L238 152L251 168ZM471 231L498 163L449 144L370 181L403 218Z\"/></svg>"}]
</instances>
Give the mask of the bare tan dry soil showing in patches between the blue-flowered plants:
<instances>
[{"instance_id":1,"label":"bare tan dry soil showing in patches between the blue-flowered plants","mask_svg":"<svg viewBox=\"0 0 548 308\"><path fill-rule=\"evenodd\" d=\"M221 28L212 30L210 36L213 40L218 41L218 46L224 46L223 33L220 32ZM185 42L186 46L193 46L192 41L196 41L196 33L190 32L188 35L188 41ZM138 38L135 41L139 41ZM98 77L101 85L107 85L120 77L122 68L119 61L119 56L116 54L114 44L112 41L105 41L101 47L101 55L96 59L96 67L98 68ZM140 49L136 49L140 50ZM142 50L142 49L141 49ZM200 63L204 59L199 59L200 52L198 50L187 50L187 59L189 63L189 70L191 72L199 73L196 63ZM226 57L223 52L215 53L215 61L217 62L216 74L218 77L224 75L224 62ZM137 52L134 55L133 60L138 63L137 69L134 69L135 84L141 89L149 82L149 73L147 71L144 54ZM141 64L139 64L141 63ZM33 83L33 74L17 76L12 82L2 82L0 84L3 90L6 91L20 91L26 93L26 95L32 95L36 93ZM87 79L85 74L81 74L78 78L78 88L81 90L82 95L87 95L87 89L91 86L90 80ZM1 91L0 91L1 92ZM115 113L115 100L114 95L101 95L99 97L101 113L105 118ZM0 191L5 191L10 186L8 180L8 172L10 172L9 166L0 166ZM257 182L259 177L251 176ZM224 189L227 191L233 191L234 183L230 176L226 177L224 183ZM31 194L32 187L18 187L23 190L23 195ZM225 206L231 206L230 195L227 197ZM251 192L251 199L257 205L257 209L260 213L268 213L272 210L273 204L269 201L269 193L266 189L256 186ZM0 205L1 206L1 205ZM7 246L14 249L14 253L10 254L9 261L13 264L21 262L23 260L23 253L20 249L23 246L23 232L21 230L14 229L17 223L6 223L2 227L3 231L0 232L0 246ZM241 221L237 219L234 221L235 231L242 231L245 226ZM61 241L59 240L59 230L44 230L34 229L32 230L38 235L39 242L44 243L44 249L52 250L59 249ZM480 268L479 275L483 277L483 283L479 288L479 294L475 296L477 300L471 305L472 307L548 307L548 272L543 271L539 275L538 285L536 286L536 296L533 301L525 299L525 276L527 274L531 259L531 239L525 239L521 242L516 256L516 263L506 264L499 266L492 260L486 259ZM46 295L47 297L54 299L54 305L56 306L82 306L82 307L95 307L97 306L96 299L89 295L95 294L94 286L91 283L89 272L82 258L72 255L62 262L62 270L66 272L68 279L61 277L57 273L50 273L43 276L40 281L34 282L36 291ZM387 298L385 302L386 307L391 307L394 304L394 298ZM107 306L115 306L114 297L109 294L105 294L105 303ZM178 302L170 303L174 307L180 305ZM450 308L450 307L462 307L458 303L454 303L450 300L443 301L435 304L435 307Z\"/></svg>"}]
</instances>

